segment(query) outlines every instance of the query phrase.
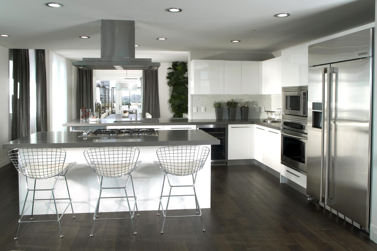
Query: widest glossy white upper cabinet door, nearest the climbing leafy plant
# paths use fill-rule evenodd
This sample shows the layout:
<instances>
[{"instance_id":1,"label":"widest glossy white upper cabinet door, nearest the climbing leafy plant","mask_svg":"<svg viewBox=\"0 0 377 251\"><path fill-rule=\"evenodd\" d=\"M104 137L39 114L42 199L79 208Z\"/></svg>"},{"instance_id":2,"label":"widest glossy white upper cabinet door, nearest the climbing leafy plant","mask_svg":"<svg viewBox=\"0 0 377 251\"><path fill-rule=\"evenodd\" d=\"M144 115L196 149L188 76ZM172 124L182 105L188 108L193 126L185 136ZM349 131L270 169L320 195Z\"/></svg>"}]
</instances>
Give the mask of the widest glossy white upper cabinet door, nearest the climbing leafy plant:
<instances>
[{"instance_id":1,"label":"widest glossy white upper cabinet door, nearest the climbing leafy plant","mask_svg":"<svg viewBox=\"0 0 377 251\"><path fill-rule=\"evenodd\" d=\"M191 94L224 94L224 60L193 60Z\"/></svg>"}]
</instances>

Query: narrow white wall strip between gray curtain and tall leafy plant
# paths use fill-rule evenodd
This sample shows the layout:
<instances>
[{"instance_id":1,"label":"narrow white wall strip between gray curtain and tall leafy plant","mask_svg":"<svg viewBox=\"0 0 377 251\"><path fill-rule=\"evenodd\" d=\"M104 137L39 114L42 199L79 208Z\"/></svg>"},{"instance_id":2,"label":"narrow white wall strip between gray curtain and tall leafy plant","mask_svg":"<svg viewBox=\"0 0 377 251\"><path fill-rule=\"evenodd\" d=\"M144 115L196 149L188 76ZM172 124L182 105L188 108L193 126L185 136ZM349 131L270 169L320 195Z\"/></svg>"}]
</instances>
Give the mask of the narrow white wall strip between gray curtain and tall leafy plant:
<instances>
[{"instance_id":1,"label":"narrow white wall strip between gray curtain and tall leafy plant","mask_svg":"<svg viewBox=\"0 0 377 251\"><path fill-rule=\"evenodd\" d=\"M171 71L167 68L171 67L172 63L161 63L158 68L158 96L160 101L160 117L161 118L172 118L174 113L170 107L169 99L171 88L167 85L167 72Z\"/></svg>"}]
</instances>

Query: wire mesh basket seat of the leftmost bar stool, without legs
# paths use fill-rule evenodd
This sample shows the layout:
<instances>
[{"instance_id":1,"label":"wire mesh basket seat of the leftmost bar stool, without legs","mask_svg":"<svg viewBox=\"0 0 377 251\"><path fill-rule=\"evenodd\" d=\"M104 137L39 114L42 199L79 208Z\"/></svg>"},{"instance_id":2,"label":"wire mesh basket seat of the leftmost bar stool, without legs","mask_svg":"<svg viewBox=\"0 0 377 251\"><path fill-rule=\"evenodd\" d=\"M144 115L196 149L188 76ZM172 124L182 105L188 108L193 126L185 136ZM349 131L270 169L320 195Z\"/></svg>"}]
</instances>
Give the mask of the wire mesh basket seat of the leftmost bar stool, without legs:
<instances>
[{"instance_id":1,"label":"wire mesh basket seat of the leftmost bar stool, without legs","mask_svg":"<svg viewBox=\"0 0 377 251\"><path fill-rule=\"evenodd\" d=\"M32 179L46 179L63 172L66 151L61 148L18 148L8 156L19 173Z\"/></svg>"}]
</instances>

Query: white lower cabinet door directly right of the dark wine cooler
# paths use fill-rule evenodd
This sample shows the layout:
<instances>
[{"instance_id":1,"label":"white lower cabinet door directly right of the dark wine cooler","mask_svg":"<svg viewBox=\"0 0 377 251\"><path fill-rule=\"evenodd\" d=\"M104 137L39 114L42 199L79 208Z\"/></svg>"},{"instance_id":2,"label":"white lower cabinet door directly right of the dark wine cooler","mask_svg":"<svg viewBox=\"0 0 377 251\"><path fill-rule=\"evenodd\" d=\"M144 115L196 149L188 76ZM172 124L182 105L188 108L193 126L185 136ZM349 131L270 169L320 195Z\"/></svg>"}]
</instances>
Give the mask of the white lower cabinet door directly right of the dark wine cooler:
<instances>
[{"instance_id":1,"label":"white lower cabinet door directly right of the dark wine cooler","mask_svg":"<svg viewBox=\"0 0 377 251\"><path fill-rule=\"evenodd\" d=\"M228 160L252 159L254 125L228 126ZM254 154L253 154L254 155Z\"/></svg>"}]
</instances>

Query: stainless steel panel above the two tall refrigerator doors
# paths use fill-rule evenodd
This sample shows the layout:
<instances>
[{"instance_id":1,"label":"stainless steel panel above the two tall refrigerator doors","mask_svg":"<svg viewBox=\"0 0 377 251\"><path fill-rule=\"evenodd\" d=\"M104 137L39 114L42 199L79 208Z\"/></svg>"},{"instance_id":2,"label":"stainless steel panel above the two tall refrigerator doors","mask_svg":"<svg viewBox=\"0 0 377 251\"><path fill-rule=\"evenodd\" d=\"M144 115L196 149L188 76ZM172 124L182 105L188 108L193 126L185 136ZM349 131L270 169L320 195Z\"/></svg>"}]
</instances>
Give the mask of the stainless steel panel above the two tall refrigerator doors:
<instances>
[{"instance_id":1,"label":"stainless steel panel above the two tall refrigerator doors","mask_svg":"<svg viewBox=\"0 0 377 251\"><path fill-rule=\"evenodd\" d=\"M372 41L373 29L371 28L310 45L308 47L309 66L372 56Z\"/></svg>"}]
</instances>

